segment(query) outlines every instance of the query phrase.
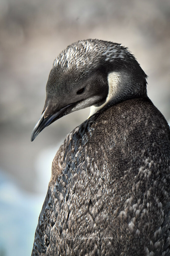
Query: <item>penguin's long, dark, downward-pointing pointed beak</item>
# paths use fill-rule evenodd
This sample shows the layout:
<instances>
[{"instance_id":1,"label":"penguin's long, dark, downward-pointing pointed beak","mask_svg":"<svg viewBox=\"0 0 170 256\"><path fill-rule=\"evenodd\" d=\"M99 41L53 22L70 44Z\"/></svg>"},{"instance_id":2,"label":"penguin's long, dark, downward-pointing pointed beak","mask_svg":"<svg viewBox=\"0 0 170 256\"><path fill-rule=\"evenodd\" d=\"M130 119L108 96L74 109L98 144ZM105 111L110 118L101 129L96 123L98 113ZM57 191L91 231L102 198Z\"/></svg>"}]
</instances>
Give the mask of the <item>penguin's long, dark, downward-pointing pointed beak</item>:
<instances>
[{"instance_id":1,"label":"penguin's long, dark, downward-pointing pointed beak","mask_svg":"<svg viewBox=\"0 0 170 256\"><path fill-rule=\"evenodd\" d=\"M35 125L32 134L31 134L31 141L33 141L37 135L48 125L52 124L54 121L58 120L64 115L71 113L72 108L74 108L75 104L70 104L65 106L64 108L57 111L55 114L49 115L48 117L44 118L44 114L46 109L43 111L40 119L38 120L37 124Z\"/></svg>"}]
</instances>

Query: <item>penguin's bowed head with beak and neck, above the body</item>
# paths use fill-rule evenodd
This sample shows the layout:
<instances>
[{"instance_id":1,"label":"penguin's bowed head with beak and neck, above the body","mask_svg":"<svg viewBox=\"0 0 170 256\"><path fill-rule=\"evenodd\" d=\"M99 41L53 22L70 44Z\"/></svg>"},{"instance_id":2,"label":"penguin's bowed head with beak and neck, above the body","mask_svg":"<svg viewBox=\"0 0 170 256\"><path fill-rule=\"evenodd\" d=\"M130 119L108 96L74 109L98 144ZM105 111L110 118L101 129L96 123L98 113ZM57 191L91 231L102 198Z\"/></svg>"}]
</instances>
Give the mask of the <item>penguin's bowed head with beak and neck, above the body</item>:
<instances>
[{"instance_id":1,"label":"penguin's bowed head with beak and neck, above the body","mask_svg":"<svg viewBox=\"0 0 170 256\"><path fill-rule=\"evenodd\" d=\"M44 109L31 141L71 112L91 106L92 115L105 106L146 95L146 77L135 57L120 44L88 39L69 45L54 60Z\"/></svg>"}]
</instances>

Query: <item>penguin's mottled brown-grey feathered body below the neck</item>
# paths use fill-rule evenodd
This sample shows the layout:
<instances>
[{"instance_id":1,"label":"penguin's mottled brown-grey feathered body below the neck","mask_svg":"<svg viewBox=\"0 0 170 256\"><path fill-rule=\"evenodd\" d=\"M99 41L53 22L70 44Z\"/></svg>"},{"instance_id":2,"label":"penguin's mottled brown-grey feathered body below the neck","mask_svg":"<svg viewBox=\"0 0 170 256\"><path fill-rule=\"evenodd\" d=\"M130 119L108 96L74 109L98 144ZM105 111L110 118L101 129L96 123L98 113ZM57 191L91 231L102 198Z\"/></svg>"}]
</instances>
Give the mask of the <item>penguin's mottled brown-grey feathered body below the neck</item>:
<instances>
[{"instance_id":1,"label":"penguin's mottled brown-grey feathered body below the neck","mask_svg":"<svg viewBox=\"0 0 170 256\"><path fill-rule=\"evenodd\" d=\"M103 104L53 160L32 256L170 255L169 126L145 87Z\"/></svg>"}]
</instances>

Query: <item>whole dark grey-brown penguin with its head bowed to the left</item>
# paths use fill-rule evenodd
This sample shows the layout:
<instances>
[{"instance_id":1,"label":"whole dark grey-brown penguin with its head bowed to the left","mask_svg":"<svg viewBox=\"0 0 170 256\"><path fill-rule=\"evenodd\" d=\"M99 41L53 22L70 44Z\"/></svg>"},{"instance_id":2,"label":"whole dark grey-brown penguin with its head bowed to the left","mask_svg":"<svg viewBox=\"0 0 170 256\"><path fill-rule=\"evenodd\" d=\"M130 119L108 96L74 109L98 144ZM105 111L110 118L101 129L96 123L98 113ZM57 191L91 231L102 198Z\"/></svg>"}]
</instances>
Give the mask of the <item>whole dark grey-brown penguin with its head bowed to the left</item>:
<instances>
[{"instance_id":1,"label":"whole dark grey-brown penguin with its head bowed to the left","mask_svg":"<svg viewBox=\"0 0 170 256\"><path fill-rule=\"evenodd\" d=\"M170 255L170 129L128 48L87 39L64 49L31 141L89 106L52 162L31 255Z\"/></svg>"}]
</instances>

